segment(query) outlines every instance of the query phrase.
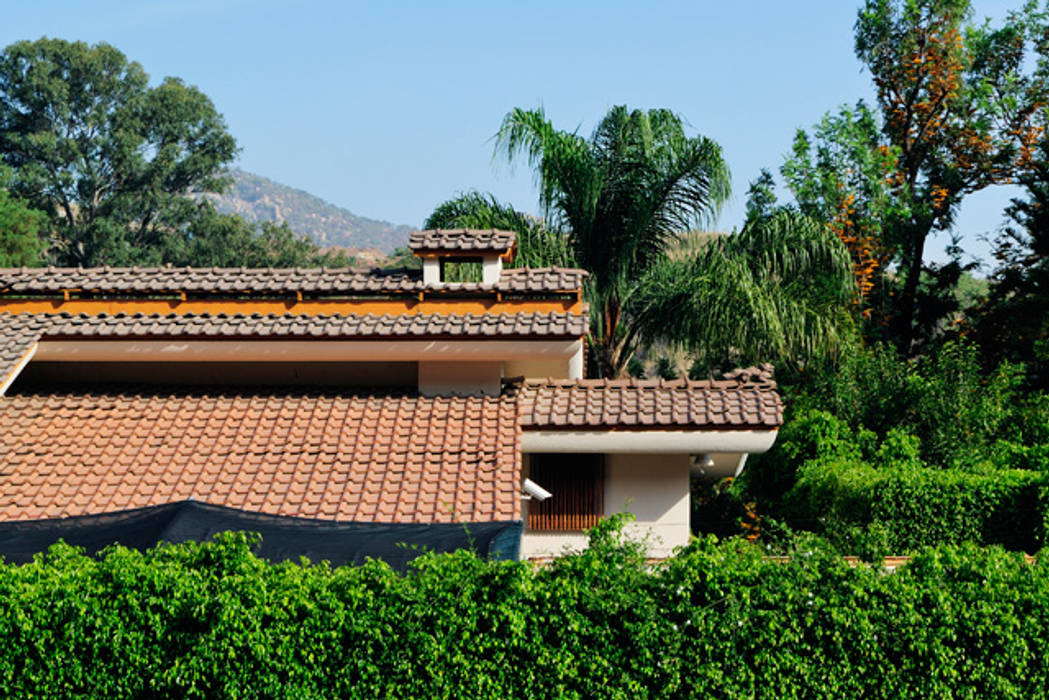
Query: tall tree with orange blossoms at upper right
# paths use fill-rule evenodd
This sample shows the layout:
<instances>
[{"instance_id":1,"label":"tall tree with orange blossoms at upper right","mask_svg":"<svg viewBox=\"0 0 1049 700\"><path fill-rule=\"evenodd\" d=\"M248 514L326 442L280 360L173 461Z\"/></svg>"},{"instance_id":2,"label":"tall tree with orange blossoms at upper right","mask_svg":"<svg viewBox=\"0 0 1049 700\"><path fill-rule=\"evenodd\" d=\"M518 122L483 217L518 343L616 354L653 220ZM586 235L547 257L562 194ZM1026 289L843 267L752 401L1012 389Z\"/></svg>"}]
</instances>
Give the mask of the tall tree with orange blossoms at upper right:
<instances>
[{"instance_id":1,"label":"tall tree with orange blossoms at upper right","mask_svg":"<svg viewBox=\"0 0 1049 700\"><path fill-rule=\"evenodd\" d=\"M876 104L843 106L811 133L799 129L780 173L794 198L785 207L848 246L868 337L908 354L935 347L944 320L957 319L954 292L976 266L962 261L958 239L948 262L929 263L929 237L951 230L969 194L1042 176L1046 20L1036 3L994 25L973 21L969 0L863 2L856 55ZM750 194L749 215L779 208L768 171Z\"/></svg>"}]
</instances>

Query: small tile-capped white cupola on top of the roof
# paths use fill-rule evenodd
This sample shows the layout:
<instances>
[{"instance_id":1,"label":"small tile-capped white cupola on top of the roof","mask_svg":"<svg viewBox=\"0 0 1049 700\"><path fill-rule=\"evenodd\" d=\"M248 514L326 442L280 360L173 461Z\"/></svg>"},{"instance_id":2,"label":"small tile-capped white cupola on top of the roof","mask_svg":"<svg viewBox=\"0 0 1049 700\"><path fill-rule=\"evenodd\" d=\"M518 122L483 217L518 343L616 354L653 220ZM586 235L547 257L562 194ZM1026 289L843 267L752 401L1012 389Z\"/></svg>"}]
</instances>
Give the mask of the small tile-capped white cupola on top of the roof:
<instances>
[{"instance_id":1,"label":"small tile-capped white cupola on top of the roof","mask_svg":"<svg viewBox=\"0 0 1049 700\"><path fill-rule=\"evenodd\" d=\"M448 283L446 263L480 263L480 282L499 281L502 263L511 262L516 252L513 231L495 229L431 229L415 231L408 248L423 260L423 282L427 285Z\"/></svg>"}]
</instances>

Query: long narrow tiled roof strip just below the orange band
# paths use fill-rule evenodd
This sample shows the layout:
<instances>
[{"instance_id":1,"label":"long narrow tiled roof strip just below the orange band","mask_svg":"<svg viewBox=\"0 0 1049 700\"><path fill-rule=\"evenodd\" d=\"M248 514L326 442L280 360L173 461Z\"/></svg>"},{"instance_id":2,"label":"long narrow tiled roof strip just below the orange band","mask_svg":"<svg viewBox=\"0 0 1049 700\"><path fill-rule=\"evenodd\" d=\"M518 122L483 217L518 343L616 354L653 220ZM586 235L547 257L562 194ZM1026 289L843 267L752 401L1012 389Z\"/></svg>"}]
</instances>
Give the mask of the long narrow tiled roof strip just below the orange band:
<instances>
[{"instance_id":1,"label":"long narrow tiled roof strip just below the orange band","mask_svg":"<svg viewBox=\"0 0 1049 700\"><path fill-rule=\"evenodd\" d=\"M198 338L578 338L586 316L571 313L6 314L0 312L0 384L41 337Z\"/></svg>"}]
</instances>

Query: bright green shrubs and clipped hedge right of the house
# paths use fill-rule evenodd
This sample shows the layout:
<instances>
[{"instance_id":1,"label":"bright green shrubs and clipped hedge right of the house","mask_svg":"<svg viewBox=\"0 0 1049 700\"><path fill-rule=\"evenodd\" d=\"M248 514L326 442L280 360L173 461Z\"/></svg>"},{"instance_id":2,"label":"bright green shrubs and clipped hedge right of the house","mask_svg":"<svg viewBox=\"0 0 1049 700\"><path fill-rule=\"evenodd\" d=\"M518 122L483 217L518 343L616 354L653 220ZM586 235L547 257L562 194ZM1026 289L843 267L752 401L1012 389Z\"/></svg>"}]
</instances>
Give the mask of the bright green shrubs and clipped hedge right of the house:
<instances>
[{"instance_id":1,"label":"bright green shrubs and clipped hedge right of the house","mask_svg":"<svg viewBox=\"0 0 1049 700\"><path fill-rule=\"evenodd\" d=\"M909 361L887 345L851 353L793 397L775 447L726 497L847 550L1034 551L1049 516L1049 397L1023 377L1010 364L985 374L960 343Z\"/></svg>"}]
</instances>

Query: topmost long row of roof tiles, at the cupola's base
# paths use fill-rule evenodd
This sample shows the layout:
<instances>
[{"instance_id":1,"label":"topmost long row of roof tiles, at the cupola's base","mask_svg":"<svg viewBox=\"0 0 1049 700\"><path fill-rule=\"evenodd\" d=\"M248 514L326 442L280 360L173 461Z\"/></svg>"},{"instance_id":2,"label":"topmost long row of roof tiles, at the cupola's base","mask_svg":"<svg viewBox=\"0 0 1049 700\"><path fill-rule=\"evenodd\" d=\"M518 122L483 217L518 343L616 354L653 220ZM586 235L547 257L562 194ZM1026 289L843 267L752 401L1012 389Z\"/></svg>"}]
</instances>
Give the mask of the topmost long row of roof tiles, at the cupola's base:
<instances>
[{"instance_id":1,"label":"topmost long row of roof tiles, at the cupola's base","mask_svg":"<svg viewBox=\"0 0 1049 700\"><path fill-rule=\"evenodd\" d=\"M582 270L515 268L504 270L495 284L456 282L424 284L420 270L265 269L265 268L0 268L0 295L91 294L150 295L233 294L317 296L507 292L539 294L582 288Z\"/></svg>"}]
</instances>

